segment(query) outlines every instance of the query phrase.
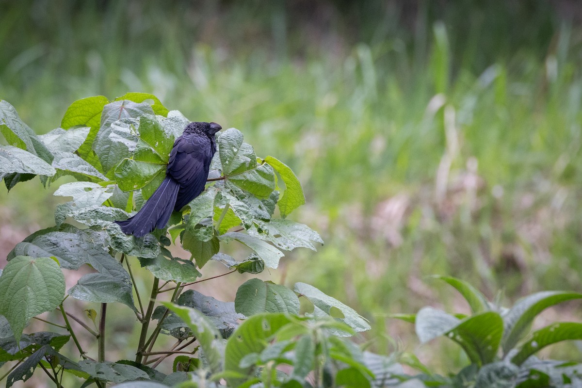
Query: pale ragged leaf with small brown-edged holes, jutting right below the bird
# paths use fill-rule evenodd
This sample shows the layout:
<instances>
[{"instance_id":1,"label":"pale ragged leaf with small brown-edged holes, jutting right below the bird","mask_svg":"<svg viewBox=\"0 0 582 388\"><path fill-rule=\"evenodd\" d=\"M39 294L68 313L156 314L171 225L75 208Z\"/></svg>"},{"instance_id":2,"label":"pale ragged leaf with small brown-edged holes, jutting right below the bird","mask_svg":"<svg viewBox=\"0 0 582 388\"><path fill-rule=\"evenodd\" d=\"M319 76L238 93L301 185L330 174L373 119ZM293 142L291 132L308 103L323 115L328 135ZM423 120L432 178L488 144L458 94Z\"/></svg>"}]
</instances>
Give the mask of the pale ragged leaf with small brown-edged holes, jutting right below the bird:
<instances>
[{"instance_id":1,"label":"pale ragged leaf with small brown-edged holes, jutting right below the bird","mask_svg":"<svg viewBox=\"0 0 582 388\"><path fill-rule=\"evenodd\" d=\"M316 251L313 242L324 243L320 235L307 225L285 219L271 219L269 222L255 220L255 226L248 233L249 236L271 241L276 247L286 251L300 247Z\"/></svg>"}]
</instances>

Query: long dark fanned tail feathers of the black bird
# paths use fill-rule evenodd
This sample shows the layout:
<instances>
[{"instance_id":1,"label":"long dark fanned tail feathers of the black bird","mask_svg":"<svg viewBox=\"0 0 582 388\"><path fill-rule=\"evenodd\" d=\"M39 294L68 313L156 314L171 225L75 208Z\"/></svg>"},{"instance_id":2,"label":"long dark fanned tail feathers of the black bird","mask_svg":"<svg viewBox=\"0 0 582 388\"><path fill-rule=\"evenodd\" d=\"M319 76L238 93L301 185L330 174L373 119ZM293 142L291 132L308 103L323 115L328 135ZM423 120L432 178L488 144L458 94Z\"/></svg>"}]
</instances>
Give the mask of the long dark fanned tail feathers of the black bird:
<instances>
[{"instance_id":1,"label":"long dark fanned tail feathers of the black bird","mask_svg":"<svg viewBox=\"0 0 582 388\"><path fill-rule=\"evenodd\" d=\"M162 229L168 223L176 204L180 184L169 176L162 181L140 211L125 221L115 221L123 233L143 237L155 228Z\"/></svg>"}]
</instances>

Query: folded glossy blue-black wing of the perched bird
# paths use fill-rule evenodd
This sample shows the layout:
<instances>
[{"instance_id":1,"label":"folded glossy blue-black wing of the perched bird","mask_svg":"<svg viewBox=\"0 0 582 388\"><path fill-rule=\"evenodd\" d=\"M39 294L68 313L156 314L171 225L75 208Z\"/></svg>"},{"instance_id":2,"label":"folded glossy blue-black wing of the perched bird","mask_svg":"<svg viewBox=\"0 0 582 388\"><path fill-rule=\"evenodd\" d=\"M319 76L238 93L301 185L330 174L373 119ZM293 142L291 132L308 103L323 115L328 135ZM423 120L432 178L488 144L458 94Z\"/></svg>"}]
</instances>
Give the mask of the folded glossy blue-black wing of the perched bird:
<instances>
[{"instance_id":1,"label":"folded glossy blue-black wing of the perched bird","mask_svg":"<svg viewBox=\"0 0 582 388\"><path fill-rule=\"evenodd\" d=\"M166 170L166 175L180 184L176 210L204 190L212 154L210 139L205 136L181 136L176 139Z\"/></svg>"}]
</instances>

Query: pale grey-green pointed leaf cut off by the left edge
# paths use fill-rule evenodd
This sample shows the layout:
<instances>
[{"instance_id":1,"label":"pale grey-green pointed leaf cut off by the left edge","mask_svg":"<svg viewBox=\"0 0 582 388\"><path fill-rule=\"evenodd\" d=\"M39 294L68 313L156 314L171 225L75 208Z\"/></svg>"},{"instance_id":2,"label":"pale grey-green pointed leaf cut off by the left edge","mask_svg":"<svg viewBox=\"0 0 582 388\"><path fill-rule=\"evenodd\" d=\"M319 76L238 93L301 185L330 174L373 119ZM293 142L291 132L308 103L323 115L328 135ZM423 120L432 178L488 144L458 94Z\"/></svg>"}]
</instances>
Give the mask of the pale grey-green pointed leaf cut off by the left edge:
<instances>
[{"instance_id":1,"label":"pale grey-green pointed leaf cut off by the left edge","mask_svg":"<svg viewBox=\"0 0 582 388\"><path fill-rule=\"evenodd\" d=\"M24 149L2 145L0 146L0 177L3 178L10 173L53 176L56 170L49 163Z\"/></svg>"}]
</instances>

